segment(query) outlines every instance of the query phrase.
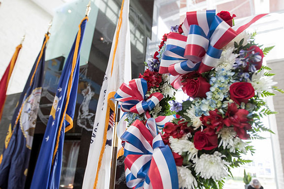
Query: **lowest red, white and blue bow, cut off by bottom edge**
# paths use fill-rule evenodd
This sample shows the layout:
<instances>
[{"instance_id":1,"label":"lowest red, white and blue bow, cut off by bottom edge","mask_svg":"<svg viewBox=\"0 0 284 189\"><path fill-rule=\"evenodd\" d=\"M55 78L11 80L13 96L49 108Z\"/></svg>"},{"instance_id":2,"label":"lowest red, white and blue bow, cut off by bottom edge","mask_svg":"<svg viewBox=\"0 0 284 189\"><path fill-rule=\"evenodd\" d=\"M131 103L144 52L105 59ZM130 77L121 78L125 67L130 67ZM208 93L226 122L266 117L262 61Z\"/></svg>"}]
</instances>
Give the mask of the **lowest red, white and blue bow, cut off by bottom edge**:
<instances>
[{"instance_id":1,"label":"lowest red, white and blue bow, cut off by bottom edge","mask_svg":"<svg viewBox=\"0 0 284 189\"><path fill-rule=\"evenodd\" d=\"M154 118L146 126L136 120L122 135L126 185L135 189L179 189L176 163L162 141Z\"/></svg>"}]
</instances>

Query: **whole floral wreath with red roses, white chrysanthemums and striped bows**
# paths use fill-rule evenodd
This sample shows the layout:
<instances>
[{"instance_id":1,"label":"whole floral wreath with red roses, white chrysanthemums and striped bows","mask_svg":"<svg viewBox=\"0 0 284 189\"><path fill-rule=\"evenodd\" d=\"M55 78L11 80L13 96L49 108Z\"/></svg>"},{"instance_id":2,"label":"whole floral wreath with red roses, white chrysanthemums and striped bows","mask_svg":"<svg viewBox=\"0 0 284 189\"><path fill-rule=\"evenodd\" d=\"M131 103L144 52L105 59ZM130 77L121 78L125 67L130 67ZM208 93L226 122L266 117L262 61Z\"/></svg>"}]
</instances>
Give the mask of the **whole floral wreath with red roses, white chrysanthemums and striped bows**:
<instances>
[{"instance_id":1,"label":"whole floral wreath with red roses, white chrysanthemums and striped bows","mask_svg":"<svg viewBox=\"0 0 284 189\"><path fill-rule=\"evenodd\" d=\"M260 122L276 113L264 97L284 93L262 65L273 47L261 49L245 31L265 15L234 25L227 11L188 12L144 74L120 87L127 187L221 189L231 168L250 162L241 158L254 151L246 140L272 132ZM182 103L179 88L189 96Z\"/></svg>"}]
</instances>

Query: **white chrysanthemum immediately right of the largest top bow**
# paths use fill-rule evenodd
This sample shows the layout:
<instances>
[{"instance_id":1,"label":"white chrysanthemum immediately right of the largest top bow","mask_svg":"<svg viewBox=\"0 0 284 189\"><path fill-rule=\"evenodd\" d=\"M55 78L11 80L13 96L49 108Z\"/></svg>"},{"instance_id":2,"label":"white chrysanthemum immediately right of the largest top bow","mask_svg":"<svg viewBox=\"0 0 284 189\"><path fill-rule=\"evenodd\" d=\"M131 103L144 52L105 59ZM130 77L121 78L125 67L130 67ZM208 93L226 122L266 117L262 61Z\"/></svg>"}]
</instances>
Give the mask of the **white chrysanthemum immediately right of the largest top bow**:
<instances>
[{"instance_id":1,"label":"white chrysanthemum immediately right of the largest top bow","mask_svg":"<svg viewBox=\"0 0 284 189\"><path fill-rule=\"evenodd\" d=\"M221 57L217 62L216 71L220 71L221 69L231 70L233 68L233 64L236 62L236 57L238 56L233 51L233 47L228 47L222 51Z\"/></svg>"}]
</instances>

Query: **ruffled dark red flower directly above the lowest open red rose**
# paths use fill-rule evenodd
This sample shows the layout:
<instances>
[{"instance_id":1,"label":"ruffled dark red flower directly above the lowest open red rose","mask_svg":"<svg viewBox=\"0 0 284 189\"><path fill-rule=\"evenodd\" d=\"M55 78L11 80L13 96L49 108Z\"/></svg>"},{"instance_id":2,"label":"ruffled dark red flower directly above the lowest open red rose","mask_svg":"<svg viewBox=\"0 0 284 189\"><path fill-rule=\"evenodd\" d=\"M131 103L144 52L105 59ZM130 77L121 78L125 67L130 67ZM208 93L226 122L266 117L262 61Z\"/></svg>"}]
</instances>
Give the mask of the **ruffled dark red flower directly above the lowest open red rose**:
<instances>
[{"instance_id":1,"label":"ruffled dark red flower directly above the lowest open red rose","mask_svg":"<svg viewBox=\"0 0 284 189\"><path fill-rule=\"evenodd\" d=\"M206 127L211 129L217 128L217 131L220 131L224 126L223 118L218 109L209 111L209 116L202 115L202 117L200 117L200 120Z\"/></svg>"}]
</instances>

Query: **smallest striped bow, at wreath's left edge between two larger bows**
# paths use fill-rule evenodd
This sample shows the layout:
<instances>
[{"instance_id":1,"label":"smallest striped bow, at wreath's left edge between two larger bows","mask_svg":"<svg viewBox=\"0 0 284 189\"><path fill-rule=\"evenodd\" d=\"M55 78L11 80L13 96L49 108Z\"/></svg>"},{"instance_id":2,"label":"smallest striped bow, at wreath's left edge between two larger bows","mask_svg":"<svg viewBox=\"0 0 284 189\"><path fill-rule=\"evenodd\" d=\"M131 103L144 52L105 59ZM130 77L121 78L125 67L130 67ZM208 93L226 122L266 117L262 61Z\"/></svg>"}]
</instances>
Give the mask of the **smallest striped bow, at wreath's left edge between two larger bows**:
<instances>
[{"instance_id":1,"label":"smallest striped bow, at wreath's left edge between two larger bows","mask_svg":"<svg viewBox=\"0 0 284 189\"><path fill-rule=\"evenodd\" d=\"M123 111L130 111L140 115L147 110L151 111L164 98L161 93L155 92L146 100L146 93L147 81L140 78L129 81L128 85L123 83L114 98L122 103L121 109Z\"/></svg>"}]
</instances>

